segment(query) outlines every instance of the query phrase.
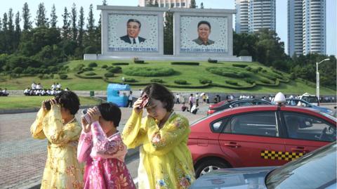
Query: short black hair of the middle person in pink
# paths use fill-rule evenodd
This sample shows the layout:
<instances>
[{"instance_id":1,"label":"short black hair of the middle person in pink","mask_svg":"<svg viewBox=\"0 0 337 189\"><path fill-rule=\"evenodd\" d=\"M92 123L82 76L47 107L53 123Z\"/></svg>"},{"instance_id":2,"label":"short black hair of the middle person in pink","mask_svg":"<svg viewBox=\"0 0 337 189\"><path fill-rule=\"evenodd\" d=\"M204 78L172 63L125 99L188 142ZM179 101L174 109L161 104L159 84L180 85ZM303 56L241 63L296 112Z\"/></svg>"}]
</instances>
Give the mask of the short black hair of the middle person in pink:
<instances>
[{"instance_id":1,"label":"short black hair of the middle person in pink","mask_svg":"<svg viewBox=\"0 0 337 189\"><path fill-rule=\"evenodd\" d=\"M121 109L114 103L101 103L98 105L100 115L107 121L114 122L114 126L117 127L121 121Z\"/></svg>"}]
</instances>

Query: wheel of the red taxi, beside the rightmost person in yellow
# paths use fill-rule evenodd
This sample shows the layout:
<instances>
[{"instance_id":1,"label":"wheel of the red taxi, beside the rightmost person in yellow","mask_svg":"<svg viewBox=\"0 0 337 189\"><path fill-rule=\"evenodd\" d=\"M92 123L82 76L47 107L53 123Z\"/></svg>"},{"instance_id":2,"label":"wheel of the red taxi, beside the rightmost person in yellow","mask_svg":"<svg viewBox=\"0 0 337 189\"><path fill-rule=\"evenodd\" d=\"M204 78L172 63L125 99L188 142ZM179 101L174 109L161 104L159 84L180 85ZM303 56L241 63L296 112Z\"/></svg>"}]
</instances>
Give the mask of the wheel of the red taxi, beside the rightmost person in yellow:
<instances>
[{"instance_id":1,"label":"wheel of the red taxi, beside the rightmost person in yellow","mask_svg":"<svg viewBox=\"0 0 337 189\"><path fill-rule=\"evenodd\" d=\"M225 162L220 159L206 159L195 167L195 177L199 178L206 173L216 169L223 169L229 167Z\"/></svg>"}]
</instances>

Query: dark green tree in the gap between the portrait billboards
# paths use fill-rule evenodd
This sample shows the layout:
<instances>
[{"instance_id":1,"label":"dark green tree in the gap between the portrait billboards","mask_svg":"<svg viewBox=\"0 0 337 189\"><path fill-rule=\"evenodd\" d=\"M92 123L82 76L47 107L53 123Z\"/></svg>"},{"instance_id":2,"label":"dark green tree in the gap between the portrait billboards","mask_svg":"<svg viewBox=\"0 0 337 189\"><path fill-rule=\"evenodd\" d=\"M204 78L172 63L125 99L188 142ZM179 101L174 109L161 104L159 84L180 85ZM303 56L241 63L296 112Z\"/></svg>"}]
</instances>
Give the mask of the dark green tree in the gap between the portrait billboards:
<instances>
[{"instance_id":1,"label":"dark green tree in the gap between the portrait billboards","mask_svg":"<svg viewBox=\"0 0 337 189\"><path fill-rule=\"evenodd\" d=\"M173 55L173 13L165 13L164 22L164 54Z\"/></svg>"}]
</instances>

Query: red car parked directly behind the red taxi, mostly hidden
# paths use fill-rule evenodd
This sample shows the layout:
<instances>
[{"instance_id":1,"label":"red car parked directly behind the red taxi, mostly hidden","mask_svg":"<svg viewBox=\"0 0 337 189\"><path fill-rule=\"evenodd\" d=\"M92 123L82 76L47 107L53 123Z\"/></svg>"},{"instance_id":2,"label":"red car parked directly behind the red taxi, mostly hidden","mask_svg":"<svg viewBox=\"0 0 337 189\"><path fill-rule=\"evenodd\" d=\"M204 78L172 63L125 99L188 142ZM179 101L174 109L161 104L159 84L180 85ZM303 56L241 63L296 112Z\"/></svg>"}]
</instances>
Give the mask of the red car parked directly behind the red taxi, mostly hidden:
<instances>
[{"instance_id":1,"label":"red car parked directly behind the red taxi, mostly hidden","mask_svg":"<svg viewBox=\"0 0 337 189\"><path fill-rule=\"evenodd\" d=\"M227 102L219 105L218 107L210 108L207 111L207 115L211 115L215 112L219 112L221 110L225 110L231 107L240 107L240 106L249 106L249 105L271 105L272 103L266 100L258 100L254 98L248 99L236 99L236 100L227 100Z\"/></svg>"}]
</instances>

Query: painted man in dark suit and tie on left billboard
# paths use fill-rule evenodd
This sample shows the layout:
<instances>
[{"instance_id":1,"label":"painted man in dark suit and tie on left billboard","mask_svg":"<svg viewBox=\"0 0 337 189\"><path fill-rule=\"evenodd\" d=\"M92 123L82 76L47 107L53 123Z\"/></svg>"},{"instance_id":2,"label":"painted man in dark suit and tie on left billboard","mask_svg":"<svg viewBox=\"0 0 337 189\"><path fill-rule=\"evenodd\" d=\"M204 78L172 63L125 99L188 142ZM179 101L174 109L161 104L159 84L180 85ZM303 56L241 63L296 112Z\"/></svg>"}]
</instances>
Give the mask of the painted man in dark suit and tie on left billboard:
<instances>
[{"instance_id":1,"label":"painted man in dark suit and tie on left billboard","mask_svg":"<svg viewBox=\"0 0 337 189\"><path fill-rule=\"evenodd\" d=\"M119 37L121 40L128 44L140 44L144 42L146 39L138 36L140 33L140 21L137 19L129 19L126 22L126 35Z\"/></svg>"}]
</instances>

